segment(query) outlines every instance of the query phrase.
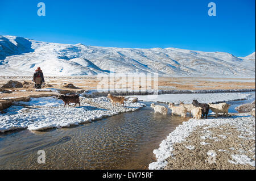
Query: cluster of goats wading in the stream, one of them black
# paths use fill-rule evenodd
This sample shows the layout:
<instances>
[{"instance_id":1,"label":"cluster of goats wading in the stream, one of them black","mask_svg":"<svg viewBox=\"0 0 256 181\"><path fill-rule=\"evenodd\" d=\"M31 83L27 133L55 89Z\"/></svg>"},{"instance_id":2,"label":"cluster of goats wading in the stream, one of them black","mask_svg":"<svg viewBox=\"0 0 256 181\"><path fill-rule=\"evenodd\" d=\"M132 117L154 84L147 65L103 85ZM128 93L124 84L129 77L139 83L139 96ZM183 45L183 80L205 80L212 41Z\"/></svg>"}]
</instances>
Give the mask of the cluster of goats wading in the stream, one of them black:
<instances>
[{"instance_id":1,"label":"cluster of goats wading in the stream, one of them black","mask_svg":"<svg viewBox=\"0 0 256 181\"><path fill-rule=\"evenodd\" d=\"M155 113L158 112L163 115L167 115L168 109L165 106L155 105L152 103L150 107L154 109ZM184 104L180 101L179 106L175 106L174 103L169 103L168 107L171 109L172 115L187 117L188 112L194 119L203 119L204 116L207 119L209 110L212 110L212 112L215 113L215 117L218 117L218 113L224 113L225 116L228 116L230 104L202 104L197 100L193 100L192 104Z\"/></svg>"}]
</instances>

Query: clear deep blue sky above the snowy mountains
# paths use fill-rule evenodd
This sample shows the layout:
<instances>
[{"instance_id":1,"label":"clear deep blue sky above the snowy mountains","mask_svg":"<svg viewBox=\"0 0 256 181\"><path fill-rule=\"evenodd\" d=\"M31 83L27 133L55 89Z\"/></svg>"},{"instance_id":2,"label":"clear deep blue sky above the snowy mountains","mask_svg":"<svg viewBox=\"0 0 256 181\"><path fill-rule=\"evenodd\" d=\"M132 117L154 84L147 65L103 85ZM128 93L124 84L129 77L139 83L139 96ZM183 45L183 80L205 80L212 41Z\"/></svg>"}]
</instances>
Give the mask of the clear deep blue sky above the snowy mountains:
<instances>
[{"instance_id":1,"label":"clear deep blue sky above the snowy mountains","mask_svg":"<svg viewBox=\"0 0 256 181\"><path fill-rule=\"evenodd\" d=\"M38 16L37 4L46 4ZM208 16L208 3L217 16ZM0 35L102 47L183 48L247 56L255 51L251 0L1 0Z\"/></svg>"}]
</instances>

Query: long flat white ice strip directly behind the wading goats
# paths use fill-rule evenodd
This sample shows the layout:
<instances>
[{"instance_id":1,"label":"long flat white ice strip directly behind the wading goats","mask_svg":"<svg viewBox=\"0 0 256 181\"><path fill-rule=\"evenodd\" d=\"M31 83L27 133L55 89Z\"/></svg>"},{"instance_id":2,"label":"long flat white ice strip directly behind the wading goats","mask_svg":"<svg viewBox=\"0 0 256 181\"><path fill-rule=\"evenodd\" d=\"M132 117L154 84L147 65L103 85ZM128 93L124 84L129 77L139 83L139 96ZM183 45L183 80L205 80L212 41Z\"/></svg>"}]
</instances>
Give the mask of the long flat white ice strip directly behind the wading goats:
<instances>
[{"instance_id":1,"label":"long flat white ice strip directly behind the wading goats","mask_svg":"<svg viewBox=\"0 0 256 181\"><path fill-rule=\"evenodd\" d=\"M191 104L193 99L200 103L228 102L231 100L247 99L250 94L242 93L213 93L213 94L162 94L162 95L137 95L139 100L150 102L172 102L179 104L179 100L185 104Z\"/></svg>"}]
</instances>

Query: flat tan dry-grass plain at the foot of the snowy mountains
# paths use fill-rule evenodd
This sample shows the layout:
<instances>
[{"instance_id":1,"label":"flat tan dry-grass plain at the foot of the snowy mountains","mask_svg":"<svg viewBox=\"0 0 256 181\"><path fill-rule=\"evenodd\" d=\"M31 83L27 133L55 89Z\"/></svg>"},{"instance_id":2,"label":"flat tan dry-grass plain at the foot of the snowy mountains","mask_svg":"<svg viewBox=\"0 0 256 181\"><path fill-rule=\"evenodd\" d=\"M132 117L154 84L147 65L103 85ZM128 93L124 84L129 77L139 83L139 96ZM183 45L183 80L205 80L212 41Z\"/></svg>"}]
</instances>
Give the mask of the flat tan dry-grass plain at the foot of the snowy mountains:
<instances>
[{"instance_id":1,"label":"flat tan dry-grass plain at the foot of the snowy mountains","mask_svg":"<svg viewBox=\"0 0 256 181\"><path fill-rule=\"evenodd\" d=\"M101 79L97 77L46 77L46 86L42 88L56 88L62 89L63 94L68 92L77 92L82 90L97 89ZM30 94L39 94L35 92L34 83L31 77L0 77L0 87L7 81L18 81L23 83L22 88L1 88L0 99L8 97L28 96ZM144 88L141 81L134 79L133 87L131 87L126 79L116 79L115 82L110 83L110 79L104 82L110 85L110 89L125 88L137 89ZM130 82L129 82L130 83ZM214 90L214 89L255 89L255 78L172 78L159 77L158 87L154 87L153 81L149 82L147 89L158 88L160 90ZM115 86L115 87L114 87ZM24 91L26 90L26 91ZM3 93L3 91L11 91Z\"/></svg>"}]
</instances>

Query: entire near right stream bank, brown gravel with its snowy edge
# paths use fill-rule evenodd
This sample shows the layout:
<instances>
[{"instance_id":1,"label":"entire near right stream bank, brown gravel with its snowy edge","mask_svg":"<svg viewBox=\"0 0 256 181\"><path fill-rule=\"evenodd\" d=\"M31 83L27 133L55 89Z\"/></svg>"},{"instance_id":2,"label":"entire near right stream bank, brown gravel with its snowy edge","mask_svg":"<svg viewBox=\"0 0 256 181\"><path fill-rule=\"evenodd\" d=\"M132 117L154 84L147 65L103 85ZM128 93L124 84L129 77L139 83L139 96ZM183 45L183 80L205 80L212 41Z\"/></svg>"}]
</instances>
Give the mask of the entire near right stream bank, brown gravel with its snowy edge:
<instances>
[{"instance_id":1,"label":"entire near right stream bank, brown gravel with its snowy edge","mask_svg":"<svg viewBox=\"0 0 256 181\"><path fill-rule=\"evenodd\" d=\"M255 169L255 118L247 113L179 125L149 169Z\"/></svg>"}]
</instances>

